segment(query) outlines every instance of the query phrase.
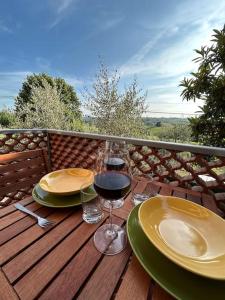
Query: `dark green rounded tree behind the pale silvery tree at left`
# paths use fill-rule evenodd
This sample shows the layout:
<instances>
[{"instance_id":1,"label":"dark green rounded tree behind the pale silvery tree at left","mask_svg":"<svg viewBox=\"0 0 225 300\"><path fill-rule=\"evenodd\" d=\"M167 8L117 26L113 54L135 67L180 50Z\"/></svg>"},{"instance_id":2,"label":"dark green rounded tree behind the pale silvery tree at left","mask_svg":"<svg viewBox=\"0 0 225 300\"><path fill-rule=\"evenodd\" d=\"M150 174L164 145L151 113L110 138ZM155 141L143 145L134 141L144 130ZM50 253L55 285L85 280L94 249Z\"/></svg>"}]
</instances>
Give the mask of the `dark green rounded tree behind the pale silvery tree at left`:
<instances>
[{"instance_id":1,"label":"dark green rounded tree behind the pale silvery tree at left","mask_svg":"<svg viewBox=\"0 0 225 300\"><path fill-rule=\"evenodd\" d=\"M34 87L42 87L43 82L47 82L50 86L54 86L60 93L60 101L62 101L68 107L71 112L71 118L80 118L80 101L74 91L74 88L67 84L62 78L53 78L45 73L33 74L27 76L24 81L18 96L15 99L15 111L21 112L27 103L31 103L31 94ZM26 114L20 114L20 117L24 120Z\"/></svg>"}]
</instances>

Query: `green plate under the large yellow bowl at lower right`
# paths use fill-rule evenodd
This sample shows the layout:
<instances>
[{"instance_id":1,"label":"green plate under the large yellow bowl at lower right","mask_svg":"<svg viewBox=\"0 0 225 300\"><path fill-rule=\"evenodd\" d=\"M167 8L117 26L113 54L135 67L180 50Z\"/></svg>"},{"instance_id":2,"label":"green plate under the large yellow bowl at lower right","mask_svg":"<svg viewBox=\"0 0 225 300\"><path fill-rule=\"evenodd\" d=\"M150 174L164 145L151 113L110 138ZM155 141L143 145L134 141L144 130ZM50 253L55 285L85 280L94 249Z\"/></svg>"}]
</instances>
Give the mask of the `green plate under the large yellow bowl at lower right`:
<instances>
[{"instance_id":1,"label":"green plate under the large yellow bowl at lower right","mask_svg":"<svg viewBox=\"0 0 225 300\"><path fill-rule=\"evenodd\" d=\"M131 247L146 272L168 293L182 300L224 300L225 281L209 279L179 267L164 256L145 236L136 206L127 221Z\"/></svg>"}]
</instances>

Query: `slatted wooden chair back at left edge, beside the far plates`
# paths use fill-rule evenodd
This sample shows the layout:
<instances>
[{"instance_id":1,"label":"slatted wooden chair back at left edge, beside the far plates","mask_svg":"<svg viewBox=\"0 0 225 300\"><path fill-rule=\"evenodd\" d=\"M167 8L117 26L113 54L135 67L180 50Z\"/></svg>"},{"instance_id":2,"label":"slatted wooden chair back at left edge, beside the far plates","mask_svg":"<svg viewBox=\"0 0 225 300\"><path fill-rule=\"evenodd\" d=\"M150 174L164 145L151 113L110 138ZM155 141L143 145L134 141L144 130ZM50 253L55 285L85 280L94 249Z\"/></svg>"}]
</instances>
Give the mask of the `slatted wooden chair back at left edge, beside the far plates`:
<instances>
[{"instance_id":1,"label":"slatted wooden chair back at left edge, beside the far plates","mask_svg":"<svg viewBox=\"0 0 225 300\"><path fill-rule=\"evenodd\" d=\"M0 207L31 195L33 186L49 171L46 150L0 156Z\"/></svg>"}]
</instances>

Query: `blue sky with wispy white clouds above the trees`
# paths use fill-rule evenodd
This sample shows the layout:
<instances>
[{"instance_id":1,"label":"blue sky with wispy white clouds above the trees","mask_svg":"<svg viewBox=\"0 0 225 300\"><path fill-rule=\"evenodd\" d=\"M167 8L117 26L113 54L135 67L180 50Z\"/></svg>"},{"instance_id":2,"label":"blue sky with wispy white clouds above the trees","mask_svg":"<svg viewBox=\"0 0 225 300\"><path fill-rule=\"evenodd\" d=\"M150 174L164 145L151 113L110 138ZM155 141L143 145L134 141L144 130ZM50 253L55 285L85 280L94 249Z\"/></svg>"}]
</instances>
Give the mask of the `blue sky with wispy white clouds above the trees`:
<instances>
[{"instance_id":1,"label":"blue sky with wispy white clouds above the trees","mask_svg":"<svg viewBox=\"0 0 225 300\"><path fill-rule=\"evenodd\" d=\"M178 84L197 67L193 49L224 23L223 0L1 1L0 108L33 72L61 76L80 95L100 55L122 86L137 77L152 112L194 113L201 103L182 102Z\"/></svg>"}]
</instances>

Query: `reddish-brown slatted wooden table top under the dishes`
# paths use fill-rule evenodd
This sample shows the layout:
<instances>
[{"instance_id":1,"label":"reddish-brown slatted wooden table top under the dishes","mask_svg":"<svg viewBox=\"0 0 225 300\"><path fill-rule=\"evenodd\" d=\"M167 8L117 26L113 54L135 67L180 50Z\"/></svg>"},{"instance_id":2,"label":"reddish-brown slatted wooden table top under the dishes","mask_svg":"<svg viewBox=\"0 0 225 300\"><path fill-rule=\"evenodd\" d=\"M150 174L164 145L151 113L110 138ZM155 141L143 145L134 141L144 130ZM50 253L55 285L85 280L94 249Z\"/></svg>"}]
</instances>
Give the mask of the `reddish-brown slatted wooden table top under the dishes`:
<instances>
[{"instance_id":1,"label":"reddish-brown slatted wooden table top under the dishes","mask_svg":"<svg viewBox=\"0 0 225 300\"><path fill-rule=\"evenodd\" d=\"M138 181L143 192L152 183ZM174 195L202 204L219 213L209 195L154 183L158 193ZM99 253L93 245L96 225L82 221L80 207L51 209L32 197L21 201L32 211L55 221L48 231L31 217L8 206L0 210L0 299L172 299L141 267L131 248L115 256ZM125 225L132 208L130 195L114 222Z\"/></svg>"}]
</instances>

